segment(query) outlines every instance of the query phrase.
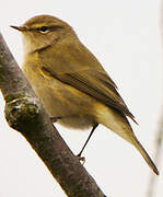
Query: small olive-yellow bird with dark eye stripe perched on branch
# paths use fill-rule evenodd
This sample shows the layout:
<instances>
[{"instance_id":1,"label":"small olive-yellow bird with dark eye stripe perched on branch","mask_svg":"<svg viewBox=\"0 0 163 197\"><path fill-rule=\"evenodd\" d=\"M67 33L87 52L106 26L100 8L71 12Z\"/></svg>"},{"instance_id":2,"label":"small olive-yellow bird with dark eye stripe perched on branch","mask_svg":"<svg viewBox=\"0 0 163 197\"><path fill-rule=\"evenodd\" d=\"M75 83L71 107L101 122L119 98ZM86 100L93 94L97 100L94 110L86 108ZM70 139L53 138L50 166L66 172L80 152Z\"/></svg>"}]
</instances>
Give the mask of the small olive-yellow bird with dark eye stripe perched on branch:
<instances>
[{"instance_id":1,"label":"small olive-yellow bird with dark eye stripe perched on branch","mask_svg":"<svg viewBox=\"0 0 163 197\"><path fill-rule=\"evenodd\" d=\"M98 124L106 126L133 144L159 174L127 120L136 121L116 84L72 27L50 15L12 27L23 35L23 71L48 115L66 127L92 127L92 132Z\"/></svg>"}]
</instances>

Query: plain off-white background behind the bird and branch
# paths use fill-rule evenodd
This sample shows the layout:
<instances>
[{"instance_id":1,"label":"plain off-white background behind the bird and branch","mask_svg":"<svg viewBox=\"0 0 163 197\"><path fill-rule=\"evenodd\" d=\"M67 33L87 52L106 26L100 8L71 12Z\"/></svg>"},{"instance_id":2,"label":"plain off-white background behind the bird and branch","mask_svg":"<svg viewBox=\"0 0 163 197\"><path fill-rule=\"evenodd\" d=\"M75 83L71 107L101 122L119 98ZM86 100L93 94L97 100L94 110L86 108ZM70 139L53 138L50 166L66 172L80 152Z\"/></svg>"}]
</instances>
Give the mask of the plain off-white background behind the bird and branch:
<instances>
[{"instance_id":1,"label":"plain off-white background behind the bird and branch","mask_svg":"<svg viewBox=\"0 0 163 197\"><path fill-rule=\"evenodd\" d=\"M162 5L161 0L5 0L0 5L0 31L21 66L21 35L10 25L21 25L37 14L51 14L68 22L116 82L139 123L131 123L135 134L154 159L163 121ZM1 96L0 196L65 197L28 142L8 126L3 107ZM78 154L90 132L56 126ZM150 196L151 170L135 148L105 127L96 129L83 155L85 169L107 197ZM163 157L153 197L163 196L162 165Z\"/></svg>"}]
</instances>

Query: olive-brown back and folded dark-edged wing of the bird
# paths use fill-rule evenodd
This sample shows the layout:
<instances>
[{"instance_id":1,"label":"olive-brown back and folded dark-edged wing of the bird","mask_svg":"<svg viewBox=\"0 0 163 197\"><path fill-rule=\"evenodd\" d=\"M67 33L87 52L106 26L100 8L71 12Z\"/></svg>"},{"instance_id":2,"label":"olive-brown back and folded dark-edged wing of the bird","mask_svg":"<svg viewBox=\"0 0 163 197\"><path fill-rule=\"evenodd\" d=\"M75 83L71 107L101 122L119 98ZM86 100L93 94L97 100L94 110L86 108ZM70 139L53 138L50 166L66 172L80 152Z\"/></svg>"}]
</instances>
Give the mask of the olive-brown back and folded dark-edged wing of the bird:
<instances>
[{"instance_id":1,"label":"olive-brown back and folded dark-edged wing of the bird","mask_svg":"<svg viewBox=\"0 0 163 197\"><path fill-rule=\"evenodd\" d=\"M42 68L45 73L95 97L109 107L118 109L137 123L117 92L114 81L85 46L74 42L72 45L62 44L58 48L55 46L54 57L51 57L50 49L54 51L51 47L39 54L40 59L44 59L40 65L45 65ZM44 53L48 57L46 61L45 58L42 58Z\"/></svg>"}]
</instances>

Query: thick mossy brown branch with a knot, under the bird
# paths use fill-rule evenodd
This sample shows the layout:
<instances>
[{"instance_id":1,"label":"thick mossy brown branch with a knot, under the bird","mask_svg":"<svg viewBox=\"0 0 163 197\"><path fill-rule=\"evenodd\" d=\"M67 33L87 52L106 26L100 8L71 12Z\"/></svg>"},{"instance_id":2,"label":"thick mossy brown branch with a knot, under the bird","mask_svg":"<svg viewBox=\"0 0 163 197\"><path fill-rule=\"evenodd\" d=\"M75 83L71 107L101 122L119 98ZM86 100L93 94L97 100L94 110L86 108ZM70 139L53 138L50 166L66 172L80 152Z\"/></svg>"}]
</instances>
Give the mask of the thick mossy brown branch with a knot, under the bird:
<instances>
[{"instance_id":1,"label":"thick mossy brown branch with a knot, under the bird","mask_svg":"<svg viewBox=\"0 0 163 197\"><path fill-rule=\"evenodd\" d=\"M0 34L0 89L9 125L20 131L70 197L106 197L67 147Z\"/></svg>"}]
</instances>

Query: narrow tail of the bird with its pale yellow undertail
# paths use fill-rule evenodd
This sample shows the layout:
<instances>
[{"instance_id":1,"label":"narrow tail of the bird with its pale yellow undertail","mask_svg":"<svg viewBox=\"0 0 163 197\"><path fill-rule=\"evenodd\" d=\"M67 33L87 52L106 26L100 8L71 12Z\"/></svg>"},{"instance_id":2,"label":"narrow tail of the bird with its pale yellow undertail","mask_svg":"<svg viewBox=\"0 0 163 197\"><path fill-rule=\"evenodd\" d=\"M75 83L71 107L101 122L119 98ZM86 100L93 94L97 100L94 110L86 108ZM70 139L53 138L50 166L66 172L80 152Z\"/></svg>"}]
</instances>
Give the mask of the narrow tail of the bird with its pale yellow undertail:
<instances>
[{"instance_id":1,"label":"narrow tail of the bird with its pale yellow undertail","mask_svg":"<svg viewBox=\"0 0 163 197\"><path fill-rule=\"evenodd\" d=\"M97 123L106 126L118 136L133 144L136 149L141 153L148 165L154 171L156 175L159 175L159 171L154 162L151 160L144 148L138 141L125 115L104 105L96 106L96 115Z\"/></svg>"}]
</instances>

